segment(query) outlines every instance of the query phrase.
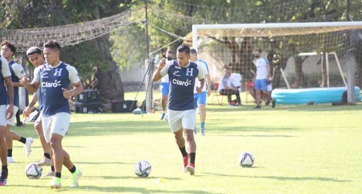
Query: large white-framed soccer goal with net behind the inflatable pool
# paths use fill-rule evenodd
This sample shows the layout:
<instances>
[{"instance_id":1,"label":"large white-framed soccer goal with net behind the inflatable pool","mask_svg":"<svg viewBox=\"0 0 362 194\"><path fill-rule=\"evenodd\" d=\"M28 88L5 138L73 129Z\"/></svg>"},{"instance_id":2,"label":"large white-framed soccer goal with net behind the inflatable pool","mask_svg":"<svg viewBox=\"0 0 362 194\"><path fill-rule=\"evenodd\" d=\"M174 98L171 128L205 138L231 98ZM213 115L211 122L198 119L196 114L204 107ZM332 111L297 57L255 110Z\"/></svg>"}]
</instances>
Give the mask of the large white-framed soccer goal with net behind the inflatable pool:
<instances>
[{"instance_id":1,"label":"large white-framed soccer goal with net behind the inflatable pool","mask_svg":"<svg viewBox=\"0 0 362 194\"><path fill-rule=\"evenodd\" d=\"M208 62L213 82L230 67L242 75L244 87L254 77L254 51L261 49L273 88L315 89L347 86L345 55L353 52L355 61L362 61L362 52L355 52L361 40L362 22L323 22L193 25L185 43Z\"/></svg>"}]
</instances>

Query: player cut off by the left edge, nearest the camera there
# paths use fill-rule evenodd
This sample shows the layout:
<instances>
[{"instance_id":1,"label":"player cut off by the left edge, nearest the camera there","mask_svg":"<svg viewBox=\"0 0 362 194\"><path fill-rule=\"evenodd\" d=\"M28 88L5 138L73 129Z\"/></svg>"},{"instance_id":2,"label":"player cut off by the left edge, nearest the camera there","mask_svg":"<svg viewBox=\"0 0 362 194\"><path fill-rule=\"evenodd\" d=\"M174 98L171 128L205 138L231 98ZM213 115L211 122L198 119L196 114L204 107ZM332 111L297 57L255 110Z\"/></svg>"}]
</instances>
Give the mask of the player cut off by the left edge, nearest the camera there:
<instances>
[{"instance_id":1,"label":"player cut off by the left edge, nearest the camera there","mask_svg":"<svg viewBox=\"0 0 362 194\"><path fill-rule=\"evenodd\" d=\"M0 159L2 162L0 186L5 186L8 181L8 160L5 131L6 121L14 116L14 88L13 83L11 82L11 73L8 61L1 55L0 68ZM5 88L7 89L7 93ZM9 108L7 109L8 100Z\"/></svg>"}]
</instances>

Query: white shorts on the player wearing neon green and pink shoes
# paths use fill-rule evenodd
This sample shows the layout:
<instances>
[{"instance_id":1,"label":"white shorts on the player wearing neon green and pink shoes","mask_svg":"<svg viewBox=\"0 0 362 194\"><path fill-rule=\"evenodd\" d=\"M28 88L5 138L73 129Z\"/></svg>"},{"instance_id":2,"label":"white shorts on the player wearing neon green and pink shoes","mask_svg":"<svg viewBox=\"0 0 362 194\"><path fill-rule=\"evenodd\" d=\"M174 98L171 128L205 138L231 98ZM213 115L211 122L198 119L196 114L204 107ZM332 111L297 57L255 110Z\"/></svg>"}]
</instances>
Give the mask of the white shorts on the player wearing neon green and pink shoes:
<instances>
[{"instance_id":1,"label":"white shorts on the player wearing neon green and pink shoes","mask_svg":"<svg viewBox=\"0 0 362 194\"><path fill-rule=\"evenodd\" d=\"M65 137L70 123L69 113L57 113L52 116L42 116L45 141L50 142L50 134L55 133Z\"/></svg>"}]
</instances>

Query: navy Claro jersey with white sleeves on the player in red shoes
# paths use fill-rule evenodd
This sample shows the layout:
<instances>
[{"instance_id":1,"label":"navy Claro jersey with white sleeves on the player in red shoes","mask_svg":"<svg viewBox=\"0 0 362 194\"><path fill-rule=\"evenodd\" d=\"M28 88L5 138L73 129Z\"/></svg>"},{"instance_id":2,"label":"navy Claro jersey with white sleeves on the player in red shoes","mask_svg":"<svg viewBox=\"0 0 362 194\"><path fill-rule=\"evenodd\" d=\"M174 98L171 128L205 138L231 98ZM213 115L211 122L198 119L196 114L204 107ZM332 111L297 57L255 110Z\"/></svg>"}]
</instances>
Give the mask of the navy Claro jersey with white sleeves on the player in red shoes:
<instances>
[{"instance_id":1,"label":"navy Claro jersey with white sleeves on the player in red shoes","mask_svg":"<svg viewBox=\"0 0 362 194\"><path fill-rule=\"evenodd\" d=\"M168 74L169 91L167 108L173 111L186 111L195 109L194 86L195 78L203 79L202 67L189 62L186 67L178 66L177 61L169 61L161 70L160 75Z\"/></svg>"}]
</instances>

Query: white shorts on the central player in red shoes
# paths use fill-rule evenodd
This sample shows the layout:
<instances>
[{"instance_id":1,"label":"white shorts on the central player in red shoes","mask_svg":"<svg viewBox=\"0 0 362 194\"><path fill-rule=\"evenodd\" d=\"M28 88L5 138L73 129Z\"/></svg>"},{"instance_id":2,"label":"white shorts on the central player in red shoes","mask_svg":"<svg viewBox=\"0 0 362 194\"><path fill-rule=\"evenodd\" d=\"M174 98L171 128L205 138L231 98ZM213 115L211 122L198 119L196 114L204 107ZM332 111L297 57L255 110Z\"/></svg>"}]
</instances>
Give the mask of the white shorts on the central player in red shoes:
<instances>
[{"instance_id":1,"label":"white shorts on the central player in red shoes","mask_svg":"<svg viewBox=\"0 0 362 194\"><path fill-rule=\"evenodd\" d=\"M168 124L173 133L181 128L194 130L196 125L195 109L187 111L172 111L168 109L167 112Z\"/></svg>"}]
</instances>

